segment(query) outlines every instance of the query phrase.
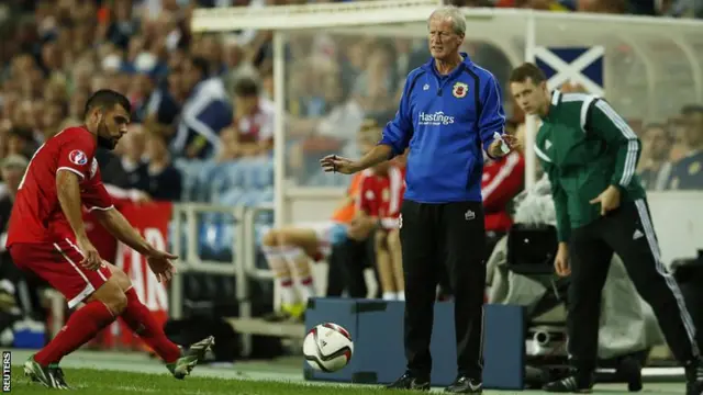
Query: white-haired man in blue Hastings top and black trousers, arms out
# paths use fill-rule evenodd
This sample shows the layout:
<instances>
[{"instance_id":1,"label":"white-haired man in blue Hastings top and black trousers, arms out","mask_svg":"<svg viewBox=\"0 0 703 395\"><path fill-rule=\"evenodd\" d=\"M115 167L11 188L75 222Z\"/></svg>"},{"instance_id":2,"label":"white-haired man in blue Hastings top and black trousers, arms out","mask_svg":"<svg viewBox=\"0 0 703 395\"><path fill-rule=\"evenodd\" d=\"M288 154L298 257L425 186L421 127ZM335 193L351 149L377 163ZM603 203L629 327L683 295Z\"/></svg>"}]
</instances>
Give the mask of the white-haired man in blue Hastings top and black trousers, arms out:
<instances>
[{"instance_id":1,"label":"white-haired man in blue Hastings top and black trousers, arms out","mask_svg":"<svg viewBox=\"0 0 703 395\"><path fill-rule=\"evenodd\" d=\"M432 59L408 76L400 109L379 145L359 160L327 156L321 163L325 171L350 174L410 147L400 218L408 371L390 387L429 388L433 307L445 264L455 295L458 365L457 379L446 390L481 393L483 151L504 156L516 140L503 135L505 116L495 77L459 52L466 32L461 11L444 7L427 22Z\"/></svg>"}]
</instances>

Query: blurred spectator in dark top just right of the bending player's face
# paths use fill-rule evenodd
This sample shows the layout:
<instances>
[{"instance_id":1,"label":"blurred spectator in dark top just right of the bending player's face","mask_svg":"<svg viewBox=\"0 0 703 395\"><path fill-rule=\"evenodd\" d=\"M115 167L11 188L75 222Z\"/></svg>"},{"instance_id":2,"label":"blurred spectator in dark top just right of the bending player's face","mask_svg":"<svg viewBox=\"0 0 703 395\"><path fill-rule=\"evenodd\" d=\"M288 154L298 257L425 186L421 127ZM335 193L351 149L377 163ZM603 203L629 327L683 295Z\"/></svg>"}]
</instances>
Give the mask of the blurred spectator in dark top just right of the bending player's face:
<instances>
[{"instance_id":1,"label":"blurred spectator in dark top just right of the bending player's face","mask_svg":"<svg viewBox=\"0 0 703 395\"><path fill-rule=\"evenodd\" d=\"M146 192L157 201L179 201L181 174L171 165L164 136L156 133L146 135L146 157L148 158Z\"/></svg>"}]
</instances>

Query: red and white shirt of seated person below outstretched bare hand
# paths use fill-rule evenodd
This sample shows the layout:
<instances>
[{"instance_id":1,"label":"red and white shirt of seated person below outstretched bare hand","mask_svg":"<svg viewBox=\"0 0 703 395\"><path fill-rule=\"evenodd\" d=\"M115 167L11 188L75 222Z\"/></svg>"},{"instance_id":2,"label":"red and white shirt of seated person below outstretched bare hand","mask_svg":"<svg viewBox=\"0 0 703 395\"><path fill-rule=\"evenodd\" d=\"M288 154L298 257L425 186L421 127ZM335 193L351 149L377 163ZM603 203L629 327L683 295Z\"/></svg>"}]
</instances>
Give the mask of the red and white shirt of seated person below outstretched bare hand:
<instances>
[{"instance_id":1,"label":"red and white shirt of seated person below outstretched bare hand","mask_svg":"<svg viewBox=\"0 0 703 395\"><path fill-rule=\"evenodd\" d=\"M398 167L390 167L387 176L377 176L367 169L359 181L358 210L378 217L387 229L398 228L404 192L403 171Z\"/></svg>"}]
</instances>

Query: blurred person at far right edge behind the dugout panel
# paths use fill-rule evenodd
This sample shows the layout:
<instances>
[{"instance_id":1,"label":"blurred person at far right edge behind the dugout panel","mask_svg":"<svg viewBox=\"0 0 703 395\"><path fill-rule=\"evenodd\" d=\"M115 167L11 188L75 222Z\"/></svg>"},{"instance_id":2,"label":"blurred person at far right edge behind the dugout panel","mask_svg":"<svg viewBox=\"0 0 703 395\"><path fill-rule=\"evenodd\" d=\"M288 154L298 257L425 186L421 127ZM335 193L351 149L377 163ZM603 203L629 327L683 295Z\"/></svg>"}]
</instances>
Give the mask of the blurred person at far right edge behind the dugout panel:
<instances>
[{"instance_id":1,"label":"blurred person at far right edge behind the dugout panel","mask_svg":"<svg viewBox=\"0 0 703 395\"><path fill-rule=\"evenodd\" d=\"M703 190L703 106L690 105L682 111L689 153L673 165L669 188Z\"/></svg>"}]
</instances>

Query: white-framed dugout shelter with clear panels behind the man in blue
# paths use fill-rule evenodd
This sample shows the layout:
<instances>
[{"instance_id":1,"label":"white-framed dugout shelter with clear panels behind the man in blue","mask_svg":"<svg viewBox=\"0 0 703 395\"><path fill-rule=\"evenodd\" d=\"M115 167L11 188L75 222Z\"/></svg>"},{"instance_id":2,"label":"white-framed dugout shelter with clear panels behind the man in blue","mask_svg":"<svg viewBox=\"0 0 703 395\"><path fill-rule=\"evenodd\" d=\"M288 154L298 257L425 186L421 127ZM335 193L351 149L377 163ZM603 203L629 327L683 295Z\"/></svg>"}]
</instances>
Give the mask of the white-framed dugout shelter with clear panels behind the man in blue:
<instances>
[{"instance_id":1,"label":"white-framed dugout shelter with clear panels behind the man in blue","mask_svg":"<svg viewBox=\"0 0 703 395\"><path fill-rule=\"evenodd\" d=\"M330 211L321 207L344 193L348 178L322 173L319 158L356 156L359 119L393 115L406 65L427 59L426 20L439 5L388 0L194 11L197 34L274 32L277 225L299 221L297 212L322 219ZM571 83L604 95L636 131L703 102L701 21L511 9L465 13L467 49L503 84L509 114L507 74L523 61L536 61L550 88ZM384 58L384 50L393 56ZM529 121L528 143L537 127ZM525 156L532 185L538 176L532 144Z\"/></svg>"}]
</instances>

